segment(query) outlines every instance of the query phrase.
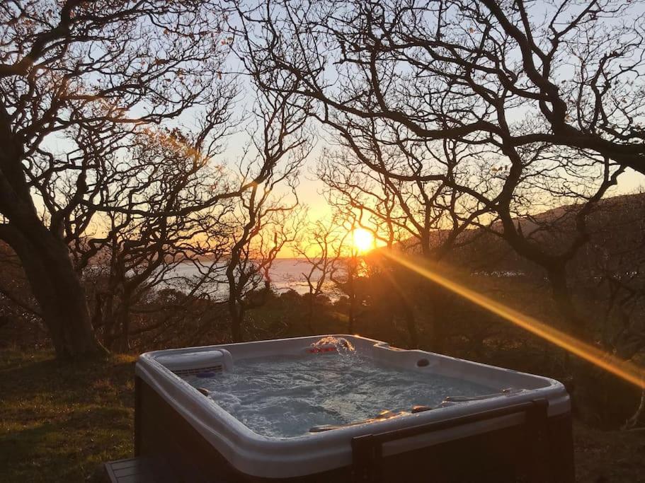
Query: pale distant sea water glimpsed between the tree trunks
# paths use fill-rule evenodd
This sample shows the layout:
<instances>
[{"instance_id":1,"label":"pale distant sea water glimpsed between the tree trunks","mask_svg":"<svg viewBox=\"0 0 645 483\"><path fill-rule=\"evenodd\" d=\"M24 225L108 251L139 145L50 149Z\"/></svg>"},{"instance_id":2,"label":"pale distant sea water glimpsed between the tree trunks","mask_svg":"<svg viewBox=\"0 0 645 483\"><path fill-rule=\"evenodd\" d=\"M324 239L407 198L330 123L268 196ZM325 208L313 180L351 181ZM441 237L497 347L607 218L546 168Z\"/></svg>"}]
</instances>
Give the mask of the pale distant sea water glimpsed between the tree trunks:
<instances>
[{"instance_id":1,"label":"pale distant sea water glimpsed between the tree trunks","mask_svg":"<svg viewBox=\"0 0 645 483\"><path fill-rule=\"evenodd\" d=\"M278 293L285 292L289 289L300 293L309 293L309 286L307 281L304 279L305 274L309 274L309 270L312 268L312 265L307 262L307 260L302 260L298 258L279 258L274 260L271 269L269 271L270 284L274 291ZM173 275L176 277L181 277L184 279L192 279L193 277L199 277L200 271L192 263L182 263L179 264L176 269L173 271ZM313 274L312 281L314 283L320 278L320 271L316 270ZM169 281L167 286L171 286L176 289L185 290L185 281L174 280ZM222 295L226 293L227 286L226 284L219 284L216 291L221 292ZM330 280L327 280L324 285L324 292L331 295L333 291L333 283Z\"/></svg>"}]
</instances>

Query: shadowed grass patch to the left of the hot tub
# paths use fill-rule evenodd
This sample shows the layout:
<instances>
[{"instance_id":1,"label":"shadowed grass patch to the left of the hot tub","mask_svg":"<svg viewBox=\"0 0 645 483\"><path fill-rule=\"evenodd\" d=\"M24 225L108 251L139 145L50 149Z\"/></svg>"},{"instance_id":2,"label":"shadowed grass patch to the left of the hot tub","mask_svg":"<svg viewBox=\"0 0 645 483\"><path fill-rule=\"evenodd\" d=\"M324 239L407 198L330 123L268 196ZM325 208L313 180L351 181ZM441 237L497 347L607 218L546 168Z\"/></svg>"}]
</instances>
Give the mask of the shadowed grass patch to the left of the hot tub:
<instances>
[{"instance_id":1,"label":"shadowed grass patch to the left of the hot tub","mask_svg":"<svg viewBox=\"0 0 645 483\"><path fill-rule=\"evenodd\" d=\"M83 481L132 455L133 361L0 352L0 481Z\"/></svg>"}]
</instances>

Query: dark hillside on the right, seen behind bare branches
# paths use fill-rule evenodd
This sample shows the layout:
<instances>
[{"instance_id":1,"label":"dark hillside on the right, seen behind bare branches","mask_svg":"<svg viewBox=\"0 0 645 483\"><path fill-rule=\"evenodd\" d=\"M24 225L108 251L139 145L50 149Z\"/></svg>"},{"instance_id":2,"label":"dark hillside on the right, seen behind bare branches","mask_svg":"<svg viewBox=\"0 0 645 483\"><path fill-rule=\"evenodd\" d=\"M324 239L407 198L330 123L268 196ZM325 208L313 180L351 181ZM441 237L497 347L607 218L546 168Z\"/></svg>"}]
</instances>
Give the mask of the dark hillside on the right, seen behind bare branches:
<instances>
[{"instance_id":1,"label":"dark hillside on the right, seen behind bare branches","mask_svg":"<svg viewBox=\"0 0 645 483\"><path fill-rule=\"evenodd\" d=\"M515 223L526 238L536 245L559 252L564 250L576 234L576 216L581 205L559 206L535 216L516 219ZM586 216L589 241L571 261L572 272L584 269L598 271L629 271L629 257L645 257L645 193L626 194L603 199ZM493 223L493 230L501 233L501 224ZM443 243L450 232L434 231L431 246ZM406 240L409 252L418 252L414 240ZM484 228L464 231L457 246L445 260L453 267L485 274L526 274L542 277L540 267L516 254L501 236Z\"/></svg>"}]
</instances>

